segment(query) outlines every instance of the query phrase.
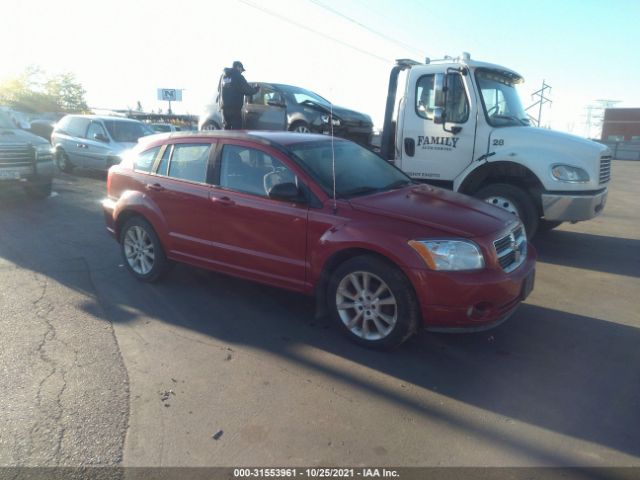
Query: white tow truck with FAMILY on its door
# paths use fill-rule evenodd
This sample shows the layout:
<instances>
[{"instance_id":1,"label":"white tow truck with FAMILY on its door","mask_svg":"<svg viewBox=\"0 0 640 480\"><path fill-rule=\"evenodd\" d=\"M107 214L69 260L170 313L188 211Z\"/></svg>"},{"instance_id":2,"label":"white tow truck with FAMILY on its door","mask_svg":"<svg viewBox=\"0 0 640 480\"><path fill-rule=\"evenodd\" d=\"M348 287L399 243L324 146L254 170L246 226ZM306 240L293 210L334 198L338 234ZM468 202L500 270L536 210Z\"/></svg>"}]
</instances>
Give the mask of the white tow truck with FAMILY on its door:
<instances>
[{"instance_id":1,"label":"white tow truck with FAMILY on its door","mask_svg":"<svg viewBox=\"0 0 640 480\"><path fill-rule=\"evenodd\" d=\"M607 199L611 153L590 140L532 127L515 88L521 82L513 70L468 53L398 60L381 155L415 180L518 215L530 238L597 216Z\"/></svg>"}]
</instances>

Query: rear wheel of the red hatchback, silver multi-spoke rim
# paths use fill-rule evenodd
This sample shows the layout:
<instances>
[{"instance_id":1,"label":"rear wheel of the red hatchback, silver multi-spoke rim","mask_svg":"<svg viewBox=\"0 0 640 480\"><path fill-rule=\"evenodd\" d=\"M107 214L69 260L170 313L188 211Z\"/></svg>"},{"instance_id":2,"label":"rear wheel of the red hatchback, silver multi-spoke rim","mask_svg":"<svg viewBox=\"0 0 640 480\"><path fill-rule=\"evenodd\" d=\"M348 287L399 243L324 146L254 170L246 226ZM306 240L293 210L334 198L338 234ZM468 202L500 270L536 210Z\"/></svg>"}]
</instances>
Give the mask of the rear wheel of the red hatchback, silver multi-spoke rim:
<instances>
[{"instance_id":1,"label":"rear wheel of the red hatchback, silver multi-spoke rim","mask_svg":"<svg viewBox=\"0 0 640 480\"><path fill-rule=\"evenodd\" d=\"M127 220L120 234L120 246L124 264L138 280L155 282L167 270L167 257L160 239L144 218Z\"/></svg>"}]
</instances>

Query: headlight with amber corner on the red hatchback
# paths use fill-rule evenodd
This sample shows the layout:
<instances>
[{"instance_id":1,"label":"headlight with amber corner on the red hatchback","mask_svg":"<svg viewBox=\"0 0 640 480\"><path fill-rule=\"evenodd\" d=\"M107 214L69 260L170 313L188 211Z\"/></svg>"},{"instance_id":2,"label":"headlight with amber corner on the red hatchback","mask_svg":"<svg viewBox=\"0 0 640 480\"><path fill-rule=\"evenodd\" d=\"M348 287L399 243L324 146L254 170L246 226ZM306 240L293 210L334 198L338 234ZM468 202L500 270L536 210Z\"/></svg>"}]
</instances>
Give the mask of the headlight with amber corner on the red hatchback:
<instances>
[{"instance_id":1,"label":"headlight with amber corner on the red hatchback","mask_svg":"<svg viewBox=\"0 0 640 480\"><path fill-rule=\"evenodd\" d=\"M411 240L432 270L478 270L484 268L484 257L473 243L463 240Z\"/></svg>"}]
</instances>

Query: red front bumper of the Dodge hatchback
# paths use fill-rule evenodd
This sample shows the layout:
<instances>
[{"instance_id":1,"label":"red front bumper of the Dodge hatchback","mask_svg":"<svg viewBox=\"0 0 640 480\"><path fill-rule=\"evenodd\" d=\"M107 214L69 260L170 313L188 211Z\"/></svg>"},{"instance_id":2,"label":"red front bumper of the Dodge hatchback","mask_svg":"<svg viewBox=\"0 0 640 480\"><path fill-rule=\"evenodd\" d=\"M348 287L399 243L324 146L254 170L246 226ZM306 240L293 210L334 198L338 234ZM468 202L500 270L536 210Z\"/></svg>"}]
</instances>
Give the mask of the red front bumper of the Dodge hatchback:
<instances>
[{"instance_id":1,"label":"red front bumper of the Dodge hatchback","mask_svg":"<svg viewBox=\"0 0 640 480\"><path fill-rule=\"evenodd\" d=\"M527 259L510 273L413 270L423 327L430 331L467 332L499 325L533 289L535 263L536 252L529 244Z\"/></svg>"}]
</instances>

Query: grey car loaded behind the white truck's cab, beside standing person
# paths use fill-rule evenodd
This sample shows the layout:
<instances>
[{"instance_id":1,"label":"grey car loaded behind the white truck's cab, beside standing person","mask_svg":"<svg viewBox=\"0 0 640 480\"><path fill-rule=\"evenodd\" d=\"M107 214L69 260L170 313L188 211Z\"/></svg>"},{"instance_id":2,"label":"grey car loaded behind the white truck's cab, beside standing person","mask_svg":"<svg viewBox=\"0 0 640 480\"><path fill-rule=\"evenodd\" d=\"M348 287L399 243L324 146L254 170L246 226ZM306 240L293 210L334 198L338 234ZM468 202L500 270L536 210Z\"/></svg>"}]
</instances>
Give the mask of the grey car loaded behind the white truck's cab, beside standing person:
<instances>
[{"instance_id":1,"label":"grey car loaded behind the white truck's cab, beside standing person","mask_svg":"<svg viewBox=\"0 0 640 480\"><path fill-rule=\"evenodd\" d=\"M260 90L247 96L242 115L247 130L289 130L299 133L331 133L362 145L371 144L373 122L369 115L332 105L317 93L292 85L257 82ZM330 124L330 117L333 114ZM200 130L222 128L217 102L200 116Z\"/></svg>"}]
</instances>

